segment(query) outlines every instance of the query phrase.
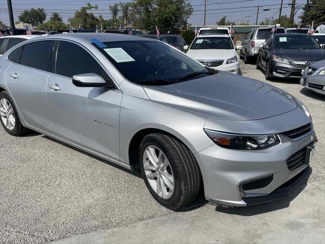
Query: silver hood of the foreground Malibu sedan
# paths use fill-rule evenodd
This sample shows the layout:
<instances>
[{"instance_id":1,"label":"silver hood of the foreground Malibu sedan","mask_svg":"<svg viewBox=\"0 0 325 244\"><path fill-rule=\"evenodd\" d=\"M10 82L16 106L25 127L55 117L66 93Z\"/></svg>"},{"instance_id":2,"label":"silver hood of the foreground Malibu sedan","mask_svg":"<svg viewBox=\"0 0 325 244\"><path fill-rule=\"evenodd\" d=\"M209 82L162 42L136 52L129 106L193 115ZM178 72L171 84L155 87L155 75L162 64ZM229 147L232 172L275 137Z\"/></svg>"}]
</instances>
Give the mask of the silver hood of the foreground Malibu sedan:
<instances>
[{"instance_id":1,"label":"silver hood of the foreground Malibu sedan","mask_svg":"<svg viewBox=\"0 0 325 244\"><path fill-rule=\"evenodd\" d=\"M144 90L153 101L219 119L262 119L297 108L283 90L225 72Z\"/></svg>"}]
</instances>

